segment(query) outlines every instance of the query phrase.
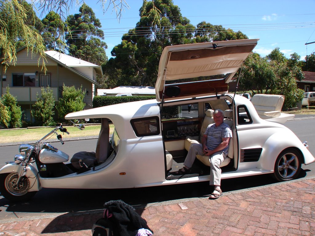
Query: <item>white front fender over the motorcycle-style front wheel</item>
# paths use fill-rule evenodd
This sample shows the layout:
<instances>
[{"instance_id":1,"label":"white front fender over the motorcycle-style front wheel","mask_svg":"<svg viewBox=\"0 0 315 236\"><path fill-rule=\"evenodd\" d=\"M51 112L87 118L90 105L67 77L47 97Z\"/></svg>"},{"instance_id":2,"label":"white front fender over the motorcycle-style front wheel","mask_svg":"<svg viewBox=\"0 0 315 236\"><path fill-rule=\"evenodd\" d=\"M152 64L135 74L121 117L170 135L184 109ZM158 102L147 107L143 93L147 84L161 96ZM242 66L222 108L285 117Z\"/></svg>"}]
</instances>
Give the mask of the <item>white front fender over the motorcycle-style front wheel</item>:
<instances>
[{"instance_id":1,"label":"white front fender over the motorcycle-style front wheel","mask_svg":"<svg viewBox=\"0 0 315 236\"><path fill-rule=\"evenodd\" d=\"M14 162L8 163L7 165L3 166L0 169L0 174L5 174L5 173L23 173L23 167L21 165L17 165ZM32 191L38 191L42 189L42 185L39 181L39 175L38 175L38 170L36 165L33 165L32 163L28 163L28 166L26 166L26 172L23 174L23 176L26 176L29 178L31 188L30 192Z\"/></svg>"}]
</instances>

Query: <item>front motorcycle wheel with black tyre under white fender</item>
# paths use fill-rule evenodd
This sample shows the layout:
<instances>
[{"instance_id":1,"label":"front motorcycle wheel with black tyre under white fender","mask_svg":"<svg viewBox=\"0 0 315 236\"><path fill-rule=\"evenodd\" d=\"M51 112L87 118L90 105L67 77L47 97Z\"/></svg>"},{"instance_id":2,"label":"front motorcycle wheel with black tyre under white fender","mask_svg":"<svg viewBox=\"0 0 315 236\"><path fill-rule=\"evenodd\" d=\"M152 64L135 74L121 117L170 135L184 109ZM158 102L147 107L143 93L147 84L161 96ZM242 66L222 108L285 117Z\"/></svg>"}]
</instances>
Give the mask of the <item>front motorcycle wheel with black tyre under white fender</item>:
<instances>
[{"instance_id":1,"label":"front motorcycle wheel with black tyre under white fender","mask_svg":"<svg viewBox=\"0 0 315 236\"><path fill-rule=\"evenodd\" d=\"M18 174L16 172L0 175L0 193L9 201L26 201L31 199L37 191L29 192L31 184L26 176L21 177L16 185Z\"/></svg>"}]
</instances>

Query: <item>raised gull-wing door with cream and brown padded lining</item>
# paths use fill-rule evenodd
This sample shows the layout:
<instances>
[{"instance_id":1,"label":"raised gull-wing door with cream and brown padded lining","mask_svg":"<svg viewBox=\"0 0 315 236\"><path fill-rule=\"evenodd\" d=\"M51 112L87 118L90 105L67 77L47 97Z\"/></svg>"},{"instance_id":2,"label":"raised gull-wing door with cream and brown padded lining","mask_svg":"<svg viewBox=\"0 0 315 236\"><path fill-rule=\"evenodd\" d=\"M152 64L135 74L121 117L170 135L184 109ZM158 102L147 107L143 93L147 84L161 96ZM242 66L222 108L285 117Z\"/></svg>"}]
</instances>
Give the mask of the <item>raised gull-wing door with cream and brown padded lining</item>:
<instances>
[{"instance_id":1,"label":"raised gull-wing door with cream and brown padded lining","mask_svg":"<svg viewBox=\"0 0 315 236\"><path fill-rule=\"evenodd\" d=\"M159 63L157 101L227 92L227 84L259 39L165 47Z\"/></svg>"}]
</instances>

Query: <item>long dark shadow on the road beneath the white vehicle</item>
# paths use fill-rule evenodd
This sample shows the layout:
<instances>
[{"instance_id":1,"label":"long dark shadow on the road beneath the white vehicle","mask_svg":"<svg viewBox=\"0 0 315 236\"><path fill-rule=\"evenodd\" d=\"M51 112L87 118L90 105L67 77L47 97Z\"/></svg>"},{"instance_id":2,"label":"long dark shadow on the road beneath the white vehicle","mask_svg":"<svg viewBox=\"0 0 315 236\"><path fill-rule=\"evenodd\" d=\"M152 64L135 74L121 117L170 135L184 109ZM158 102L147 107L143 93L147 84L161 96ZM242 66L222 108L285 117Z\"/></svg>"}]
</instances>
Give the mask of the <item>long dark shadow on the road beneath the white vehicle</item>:
<instances>
[{"instance_id":1,"label":"long dark shadow on the road beneath the white vehicle","mask_svg":"<svg viewBox=\"0 0 315 236\"><path fill-rule=\"evenodd\" d=\"M306 176L302 170L299 178ZM272 175L258 175L223 179L223 192L244 190L277 183ZM205 197L212 192L208 182L177 184L147 188L129 189L42 189L27 202L9 202L2 198L0 206L6 212L34 212L45 213L84 213L103 209L103 204L110 200L122 200L136 209L144 208L148 204L171 200ZM5 214L4 212L0 213Z\"/></svg>"}]
</instances>

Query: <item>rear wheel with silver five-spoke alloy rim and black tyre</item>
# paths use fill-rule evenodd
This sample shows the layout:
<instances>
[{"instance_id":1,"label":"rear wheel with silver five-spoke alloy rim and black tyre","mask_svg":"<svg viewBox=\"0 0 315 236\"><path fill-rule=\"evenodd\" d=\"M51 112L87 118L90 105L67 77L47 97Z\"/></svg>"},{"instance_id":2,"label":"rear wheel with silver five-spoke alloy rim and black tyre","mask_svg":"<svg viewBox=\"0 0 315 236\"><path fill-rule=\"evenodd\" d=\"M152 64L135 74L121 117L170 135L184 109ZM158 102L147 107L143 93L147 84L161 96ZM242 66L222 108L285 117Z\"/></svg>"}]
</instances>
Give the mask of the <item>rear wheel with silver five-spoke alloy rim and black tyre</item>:
<instances>
[{"instance_id":1,"label":"rear wheel with silver five-spoke alloy rim and black tyre","mask_svg":"<svg viewBox=\"0 0 315 236\"><path fill-rule=\"evenodd\" d=\"M295 149L286 149L278 156L274 166L274 177L278 181L295 179L301 171L301 154Z\"/></svg>"}]
</instances>

